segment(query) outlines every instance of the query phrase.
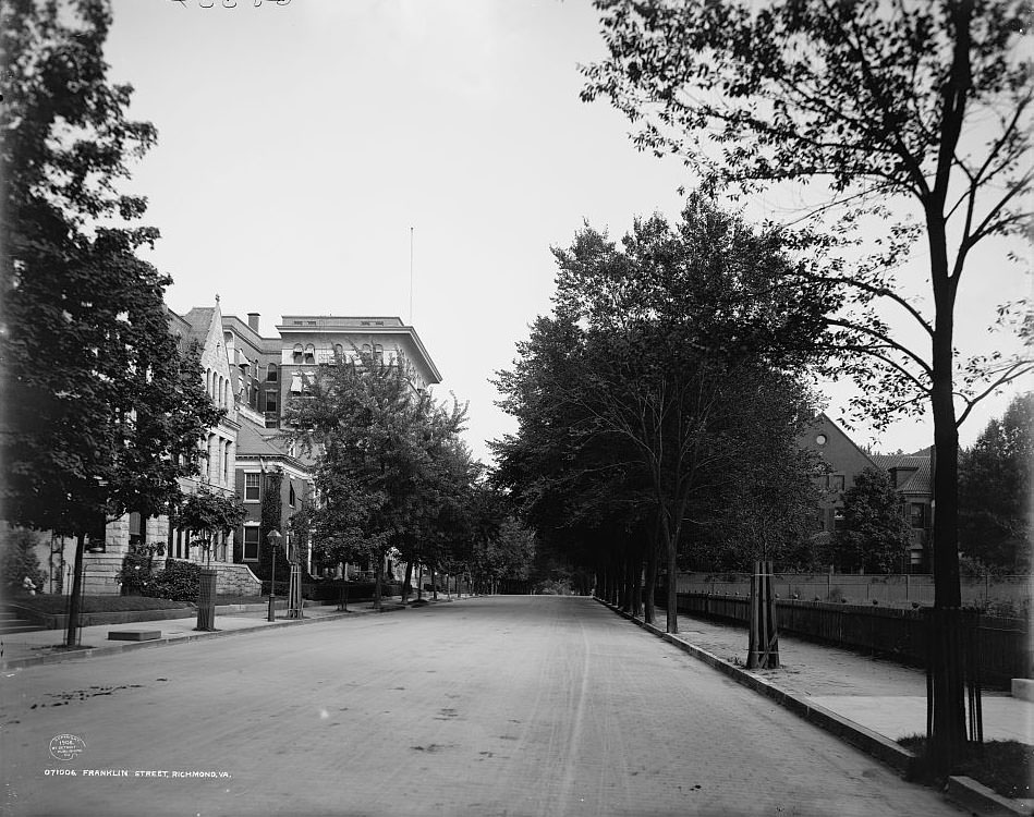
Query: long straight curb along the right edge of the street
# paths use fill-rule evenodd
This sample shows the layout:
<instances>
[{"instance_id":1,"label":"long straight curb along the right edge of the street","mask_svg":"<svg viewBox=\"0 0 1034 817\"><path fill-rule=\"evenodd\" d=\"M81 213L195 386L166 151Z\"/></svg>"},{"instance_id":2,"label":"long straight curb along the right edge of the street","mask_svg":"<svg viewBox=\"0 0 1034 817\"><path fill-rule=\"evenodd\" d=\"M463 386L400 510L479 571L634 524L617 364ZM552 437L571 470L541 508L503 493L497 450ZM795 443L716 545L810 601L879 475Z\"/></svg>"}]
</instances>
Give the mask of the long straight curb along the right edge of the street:
<instances>
[{"instance_id":1,"label":"long straight curb along the right edge of the street","mask_svg":"<svg viewBox=\"0 0 1034 817\"><path fill-rule=\"evenodd\" d=\"M861 723L855 723L853 720L837 715L825 707L818 706L816 704L810 704L807 703L806 698L801 698L796 695L779 690L769 684L767 681L759 679L756 675L752 675L743 669L740 669L735 664L729 663L728 661L718 658L718 656L711 655L707 650L701 649L700 647L693 646L689 642L682 641L678 637L678 635L666 633L653 624L647 624L645 621L635 618L631 613L620 610L610 602L604 601L598 596L594 596L594 598L607 609L618 613L618 615L628 619L643 630L653 633L659 638L662 638L672 646L681 649L683 653L689 653L694 658L698 658L719 672L728 675L737 683L742 684L747 688L754 690L755 692L759 692L762 695L766 695L777 704L792 711L794 715L804 718L804 720L814 723L819 729L824 729L842 741L856 746L868 755L872 755L877 760L890 766L905 780L913 779L916 771L916 761L919 758L913 753L898 745L893 741L884 737L884 735L873 732L869 729L866 729ZM992 791L986 785L976 782L972 778L961 775L948 778L948 783L945 786L944 795L946 800L951 801L956 805L962 806L971 814L981 815L981 817L999 817L999 815L1002 817L1030 817L1032 814L1030 810L1023 808L1007 797L1002 797L1000 794Z\"/></svg>"}]
</instances>

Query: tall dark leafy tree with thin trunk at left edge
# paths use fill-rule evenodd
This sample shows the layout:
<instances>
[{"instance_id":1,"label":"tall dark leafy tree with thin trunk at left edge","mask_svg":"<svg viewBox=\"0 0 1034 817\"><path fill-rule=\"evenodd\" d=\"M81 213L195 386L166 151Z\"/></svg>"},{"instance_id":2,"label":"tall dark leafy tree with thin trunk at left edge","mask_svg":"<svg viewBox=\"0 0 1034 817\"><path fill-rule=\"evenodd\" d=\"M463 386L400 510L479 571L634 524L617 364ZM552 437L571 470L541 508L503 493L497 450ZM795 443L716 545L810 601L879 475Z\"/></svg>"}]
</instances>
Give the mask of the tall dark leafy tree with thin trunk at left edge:
<instances>
[{"instance_id":1,"label":"tall dark leafy tree with thin trunk at left edge","mask_svg":"<svg viewBox=\"0 0 1034 817\"><path fill-rule=\"evenodd\" d=\"M70 644L85 533L163 512L219 418L169 332L170 279L135 256L158 233L118 182L156 132L107 80L110 23L100 0L0 5L2 515L77 537Z\"/></svg>"}]
</instances>

